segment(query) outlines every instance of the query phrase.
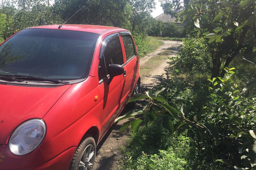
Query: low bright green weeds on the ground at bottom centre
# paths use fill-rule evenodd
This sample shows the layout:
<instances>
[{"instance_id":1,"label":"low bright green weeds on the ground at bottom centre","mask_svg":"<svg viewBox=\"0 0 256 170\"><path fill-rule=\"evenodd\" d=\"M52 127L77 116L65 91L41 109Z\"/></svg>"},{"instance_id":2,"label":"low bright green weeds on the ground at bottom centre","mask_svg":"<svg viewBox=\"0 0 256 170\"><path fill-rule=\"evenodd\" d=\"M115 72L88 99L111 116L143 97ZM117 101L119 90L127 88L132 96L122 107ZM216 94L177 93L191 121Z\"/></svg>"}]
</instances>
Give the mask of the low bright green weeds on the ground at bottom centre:
<instances>
[{"instance_id":1,"label":"low bright green weeds on the ground at bottom centre","mask_svg":"<svg viewBox=\"0 0 256 170\"><path fill-rule=\"evenodd\" d=\"M126 160L125 168L122 169L171 169L172 165L178 169L190 169L190 166L184 165L191 164L196 159L196 143L191 138L178 136L176 133L166 137L166 133L167 130L156 128L154 122L147 127L140 127L136 132L132 131L124 149ZM161 162L165 163L160 165Z\"/></svg>"}]
</instances>

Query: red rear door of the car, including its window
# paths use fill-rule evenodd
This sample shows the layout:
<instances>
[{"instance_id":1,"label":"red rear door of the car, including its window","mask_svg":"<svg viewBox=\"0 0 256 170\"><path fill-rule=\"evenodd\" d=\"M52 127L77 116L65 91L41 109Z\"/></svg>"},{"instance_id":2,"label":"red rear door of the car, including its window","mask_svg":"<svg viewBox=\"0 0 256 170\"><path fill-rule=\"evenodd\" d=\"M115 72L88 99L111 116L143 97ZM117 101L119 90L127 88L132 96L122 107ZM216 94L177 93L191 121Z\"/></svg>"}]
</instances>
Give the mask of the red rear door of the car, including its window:
<instances>
[{"instance_id":1,"label":"red rear door of the car, including its window","mask_svg":"<svg viewBox=\"0 0 256 170\"><path fill-rule=\"evenodd\" d=\"M125 88L123 90L122 96L125 97L124 101L130 98L133 93L135 84L137 82L136 76L139 71L139 56L136 51L134 40L129 32L120 32L121 40L123 43L123 48L125 51L125 64L124 68L126 70L125 76Z\"/></svg>"}]
</instances>

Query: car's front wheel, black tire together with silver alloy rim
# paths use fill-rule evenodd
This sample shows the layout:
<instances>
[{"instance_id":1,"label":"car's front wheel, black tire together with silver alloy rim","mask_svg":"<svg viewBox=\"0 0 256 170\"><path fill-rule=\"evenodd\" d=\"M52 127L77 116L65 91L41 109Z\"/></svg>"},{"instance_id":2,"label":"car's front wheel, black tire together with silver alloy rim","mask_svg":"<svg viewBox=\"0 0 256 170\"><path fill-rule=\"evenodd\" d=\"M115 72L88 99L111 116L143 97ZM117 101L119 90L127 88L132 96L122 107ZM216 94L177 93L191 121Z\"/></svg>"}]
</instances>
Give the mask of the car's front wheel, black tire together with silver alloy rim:
<instances>
[{"instance_id":1,"label":"car's front wheel, black tire together with silver alloy rim","mask_svg":"<svg viewBox=\"0 0 256 170\"><path fill-rule=\"evenodd\" d=\"M86 135L75 151L69 170L92 170L96 157L96 144L92 136Z\"/></svg>"}]
</instances>

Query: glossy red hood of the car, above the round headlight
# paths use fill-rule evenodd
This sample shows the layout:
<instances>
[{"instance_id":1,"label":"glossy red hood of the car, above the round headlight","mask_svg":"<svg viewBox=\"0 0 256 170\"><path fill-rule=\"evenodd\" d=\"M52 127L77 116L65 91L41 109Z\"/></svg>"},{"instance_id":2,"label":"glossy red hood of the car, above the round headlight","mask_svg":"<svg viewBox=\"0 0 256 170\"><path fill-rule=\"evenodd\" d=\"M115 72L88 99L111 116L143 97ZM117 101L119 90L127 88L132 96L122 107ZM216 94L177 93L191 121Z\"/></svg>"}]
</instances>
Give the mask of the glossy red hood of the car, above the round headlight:
<instances>
[{"instance_id":1,"label":"glossy red hood of the car, above the round headlight","mask_svg":"<svg viewBox=\"0 0 256 170\"><path fill-rule=\"evenodd\" d=\"M0 84L0 144L6 144L23 121L43 118L70 86L38 88Z\"/></svg>"}]
</instances>

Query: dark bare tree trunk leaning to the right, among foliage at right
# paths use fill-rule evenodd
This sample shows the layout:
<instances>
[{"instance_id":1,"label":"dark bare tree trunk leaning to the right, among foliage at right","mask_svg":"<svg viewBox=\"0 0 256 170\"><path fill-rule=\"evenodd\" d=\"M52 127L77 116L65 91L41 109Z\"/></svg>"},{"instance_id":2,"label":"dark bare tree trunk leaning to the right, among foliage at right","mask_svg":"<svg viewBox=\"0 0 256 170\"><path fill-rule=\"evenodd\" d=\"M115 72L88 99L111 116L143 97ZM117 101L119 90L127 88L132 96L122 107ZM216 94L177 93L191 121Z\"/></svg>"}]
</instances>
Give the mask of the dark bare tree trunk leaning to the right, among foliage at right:
<instances>
[{"instance_id":1,"label":"dark bare tree trunk leaning to the right, among foliage at right","mask_svg":"<svg viewBox=\"0 0 256 170\"><path fill-rule=\"evenodd\" d=\"M233 54L232 54L231 56L227 57L226 62L225 62L225 64L224 64L224 67L223 67L223 68L228 67L228 66L229 66L229 63L230 63L230 62L235 58L235 56L239 53L240 49L241 49L242 46L243 46L244 38L245 38L245 35L246 35L247 31L248 31L248 28L244 28L244 29L243 29L243 32L241 33L241 36L240 36L240 38L239 38L239 40L238 40L238 46L237 46L237 48L233 49L233 50L234 50ZM225 73L226 73L226 71L222 70L220 76L221 76L221 77L224 77Z\"/></svg>"}]
</instances>

